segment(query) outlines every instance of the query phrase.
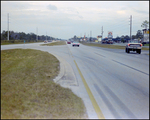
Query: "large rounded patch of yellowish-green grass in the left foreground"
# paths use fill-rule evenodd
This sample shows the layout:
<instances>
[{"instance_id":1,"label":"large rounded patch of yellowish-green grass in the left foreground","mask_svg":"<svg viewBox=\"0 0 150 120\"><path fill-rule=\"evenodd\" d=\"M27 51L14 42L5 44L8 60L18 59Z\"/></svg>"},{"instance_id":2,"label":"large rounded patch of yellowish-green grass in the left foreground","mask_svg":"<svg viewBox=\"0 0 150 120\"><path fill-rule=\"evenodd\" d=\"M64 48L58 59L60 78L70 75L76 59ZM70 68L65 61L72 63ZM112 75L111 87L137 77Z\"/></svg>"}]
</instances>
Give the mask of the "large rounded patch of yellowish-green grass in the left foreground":
<instances>
[{"instance_id":1,"label":"large rounded patch of yellowish-green grass in the left foreground","mask_svg":"<svg viewBox=\"0 0 150 120\"><path fill-rule=\"evenodd\" d=\"M48 52L1 50L1 118L87 118L82 99L53 82L58 73Z\"/></svg>"}]
</instances>

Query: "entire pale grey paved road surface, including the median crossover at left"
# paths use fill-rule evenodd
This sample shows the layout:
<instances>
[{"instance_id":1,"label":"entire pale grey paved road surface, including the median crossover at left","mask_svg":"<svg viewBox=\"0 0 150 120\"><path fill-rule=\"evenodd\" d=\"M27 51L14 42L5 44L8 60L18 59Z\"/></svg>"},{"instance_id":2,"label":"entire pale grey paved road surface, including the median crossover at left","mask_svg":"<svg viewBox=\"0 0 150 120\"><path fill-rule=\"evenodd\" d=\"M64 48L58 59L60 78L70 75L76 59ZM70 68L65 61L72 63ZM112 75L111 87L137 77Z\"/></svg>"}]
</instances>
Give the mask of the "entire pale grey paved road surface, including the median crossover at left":
<instances>
[{"instance_id":1,"label":"entire pale grey paved road surface, including the median crossover at left","mask_svg":"<svg viewBox=\"0 0 150 120\"><path fill-rule=\"evenodd\" d=\"M98 115L83 78L104 118L149 118L149 51L127 54L124 50L84 45L50 47L39 44L1 45L1 50L31 48L60 57L66 65L60 84L83 99L89 118L98 118Z\"/></svg>"}]
</instances>

